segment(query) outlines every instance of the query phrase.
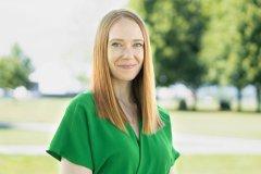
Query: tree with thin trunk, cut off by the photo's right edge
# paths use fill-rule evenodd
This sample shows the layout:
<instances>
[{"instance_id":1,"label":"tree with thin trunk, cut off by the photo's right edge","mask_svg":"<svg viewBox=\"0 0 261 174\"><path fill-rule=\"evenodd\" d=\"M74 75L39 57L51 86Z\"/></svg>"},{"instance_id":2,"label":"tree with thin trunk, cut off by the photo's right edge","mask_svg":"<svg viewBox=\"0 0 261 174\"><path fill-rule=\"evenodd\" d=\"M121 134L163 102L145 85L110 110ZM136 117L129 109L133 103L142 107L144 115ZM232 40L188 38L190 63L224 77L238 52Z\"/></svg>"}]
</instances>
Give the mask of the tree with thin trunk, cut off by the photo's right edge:
<instances>
[{"instance_id":1,"label":"tree with thin trunk, cut off by the photo's right edge","mask_svg":"<svg viewBox=\"0 0 261 174\"><path fill-rule=\"evenodd\" d=\"M261 111L261 1L243 0L238 32L240 46L238 57L246 70L248 82L257 89L257 112Z\"/></svg>"}]
</instances>

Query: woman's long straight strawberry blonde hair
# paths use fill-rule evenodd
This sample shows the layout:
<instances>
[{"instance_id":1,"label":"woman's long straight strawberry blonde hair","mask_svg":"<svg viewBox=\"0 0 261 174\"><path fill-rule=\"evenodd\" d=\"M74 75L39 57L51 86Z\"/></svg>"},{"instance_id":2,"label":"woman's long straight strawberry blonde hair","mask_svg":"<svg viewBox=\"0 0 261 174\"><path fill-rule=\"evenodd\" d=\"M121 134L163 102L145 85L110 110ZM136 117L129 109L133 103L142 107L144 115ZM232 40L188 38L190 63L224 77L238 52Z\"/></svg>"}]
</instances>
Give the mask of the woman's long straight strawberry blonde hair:
<instances>
[{"instance_id":1,"label":"woman's long straight strawberry blonde hair","mask_svg":"<svg viewBox=\"0 0 261 174\"><path fill-rule=\"evenodd\" d=\"M138 75L132 82L132 92L142 119L142 132L153 134L163 126L156 101L154 71L148 30L142 20L128 10L120 9L109 12L98 27L92 59L91 90L100 117L109 119L116 127L126 133L127 122L113 90L112 77L108 62L108 39L111 26L120 18L130 18L138 24L142 33L144 63Z\"/></svg>"}]
</instances>

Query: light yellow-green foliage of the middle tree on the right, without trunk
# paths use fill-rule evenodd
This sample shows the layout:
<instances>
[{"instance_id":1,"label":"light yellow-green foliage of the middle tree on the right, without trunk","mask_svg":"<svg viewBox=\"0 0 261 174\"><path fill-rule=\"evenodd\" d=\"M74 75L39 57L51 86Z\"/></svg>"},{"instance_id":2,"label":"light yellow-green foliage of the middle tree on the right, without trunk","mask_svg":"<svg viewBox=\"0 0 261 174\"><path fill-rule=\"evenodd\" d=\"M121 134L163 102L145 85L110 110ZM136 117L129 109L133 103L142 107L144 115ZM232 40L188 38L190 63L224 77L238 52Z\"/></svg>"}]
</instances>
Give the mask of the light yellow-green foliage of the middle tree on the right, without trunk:
<instances>
[{"instance_id":1,"label":"light yellow-green foliage of the middle tree on the right, without trunk","mask_svg":"<svg viewBox=\"0 0 261 174\"><path fill-rule=\"evenodd\" d=\"M200 59L208 67L204 82L227 85L228 75L234 71L227 67L237 59L235 53L239 40L236 29L239 18L235 9L237 3L231 0L206 0L202 5L203 13L210 17L200 51Z\"/></svg>"}]
</instances>

